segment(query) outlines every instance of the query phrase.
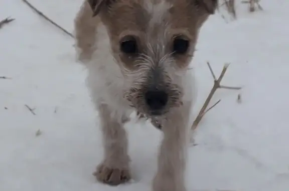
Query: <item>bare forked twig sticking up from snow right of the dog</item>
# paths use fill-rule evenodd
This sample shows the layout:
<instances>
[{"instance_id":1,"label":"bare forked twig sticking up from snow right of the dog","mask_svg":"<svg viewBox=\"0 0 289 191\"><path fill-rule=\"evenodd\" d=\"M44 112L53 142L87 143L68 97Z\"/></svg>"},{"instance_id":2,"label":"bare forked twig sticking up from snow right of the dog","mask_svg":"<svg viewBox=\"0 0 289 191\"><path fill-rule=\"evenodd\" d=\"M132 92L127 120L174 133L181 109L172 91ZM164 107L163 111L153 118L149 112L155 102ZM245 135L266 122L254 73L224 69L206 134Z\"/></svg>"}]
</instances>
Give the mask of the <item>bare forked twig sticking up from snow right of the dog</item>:
<instances>
[{"instance_id":1,"label":"bare forked twig sticking up from snow right of the dog","mask_svg":"<svg viewBox=\"0 0 289 191\"><path fill-rule=\"evenodd\" d=\"M220 76L219 76L218 79L216 79L216 75L214 74L210 63L207 62L207 64L208 64L208 67L209 67L209 69L210 69L210 72L211 72L211 74L212 74L212 76L213 76L213 78L214 78L214 86L213 86L211 92L209 93L209 95L208 95L208 97L207 97L207 99L206 99L203 107L201 108L198 116L196 117L195 121L193 122L192 130L195 130L195 129L197 128L198 124L200 123L200 121L202 120L203 116L204 116L209 110L211 110L213 107L215 107L215 106L221 101L221 100L219 100L217 103L215 103L213 106L211 106L209 109L206 110L206 108L208 107L208 105L209 105L209 103L210 103L210 101L211 101L214 93L216 92L216 90L217 90L218 88L222 88L222 89L232 89L232 90L239 90L239 89L241 89L241 87L230 87L230 86L222 86L222 85L220 85L220 83L221 83L221 81L222 81L222 79L223 79L223 77L224 77L224 75L225 75L225 73L226 73L226 71L227 71L227 69L228 69L229 64L225 64L225 65L224 65L223 70L222 70L222 72L221 72L221 74L220 74Z\"/></svg>"}]
</instances>

